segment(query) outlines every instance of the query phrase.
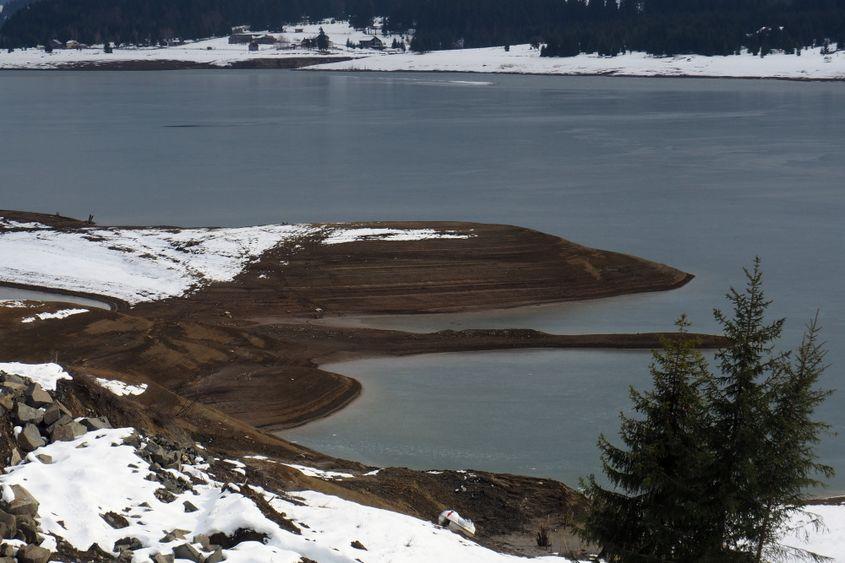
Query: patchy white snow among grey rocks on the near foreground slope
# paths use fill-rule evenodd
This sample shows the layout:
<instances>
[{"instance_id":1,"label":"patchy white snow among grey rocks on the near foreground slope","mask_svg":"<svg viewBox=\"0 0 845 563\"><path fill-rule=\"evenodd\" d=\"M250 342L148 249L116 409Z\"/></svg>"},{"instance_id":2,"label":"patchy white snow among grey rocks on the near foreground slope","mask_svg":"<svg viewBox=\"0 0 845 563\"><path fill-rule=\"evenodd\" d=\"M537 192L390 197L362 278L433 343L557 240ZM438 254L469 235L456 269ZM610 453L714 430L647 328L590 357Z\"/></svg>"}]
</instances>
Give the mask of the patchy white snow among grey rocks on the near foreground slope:
<instances>
[{"instance_id":1,"label":"patchy white snow among grey rocks on the near foreground slope","mask_svg":"<svg viewBox=\"0 0 845 563\"><path fill-rule=\"evenodd\" d=\"M224 550L226 561L296 563L302 557L321 563L526 561L481 547L431 522L338 497L308 490L278 494L248 484L225 485L210 474L205 460L169 470L173 477L201 484L163 502L155 494L160 483L146 479L150 465L124 443L133 432L131 428L99 430L70 442L55 442L28 454L24 463L0 476L7 497L12 485L21 485L39 501L40 528L48 535L42 545L53 548L57 538L63 538L81 551L93 543L111 550L117 540L131 537L143 546L134 551L133 561L148 561L153 554L192 543L197 534L232 535L248 529L266 534L267 539ZM43 455L50 456L49 463L42 462ZM282 529L265 517L241 494L243 487L263 495L302 534ZM186 510L186 502L196 510ZM113 528L103 518L107 513L122 516L127 525ZM166 533L173 530L186 531L185 539L167 538ZM366 550L354 547L354 542ZM204 551L199 542L193 546Z\"/></svg>"}]
</instances>

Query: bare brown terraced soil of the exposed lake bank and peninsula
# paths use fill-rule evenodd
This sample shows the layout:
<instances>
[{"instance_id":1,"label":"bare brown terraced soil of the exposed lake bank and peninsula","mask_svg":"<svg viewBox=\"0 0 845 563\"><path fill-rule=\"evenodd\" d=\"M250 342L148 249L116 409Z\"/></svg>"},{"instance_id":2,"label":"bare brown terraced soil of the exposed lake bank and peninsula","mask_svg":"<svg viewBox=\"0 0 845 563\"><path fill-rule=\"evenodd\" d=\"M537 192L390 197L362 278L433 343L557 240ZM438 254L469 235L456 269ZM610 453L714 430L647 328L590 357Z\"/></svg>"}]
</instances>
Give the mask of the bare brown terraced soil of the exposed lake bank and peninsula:
<instances>
[{"instance_id":1,"label":"bare brown terraced soil of the exposed lake bank and peninsula","mask_svg":"<svg viewBox=\"0 0 845 563\"><path fill-rule=\"evenodd\" d=\"M57 229L85 223L0 211ZM328 360L503 348L654 348L667 335L550 335L532 330L432 334L309 324L322 315L429 313L514 307L660 291L692 276L636 257L586 248L504 225L378 223L362 226L449 229L467 239L365 241L323 245L316 238L265 253L231 283L179 299L92 310L29 324L23 316L60 308L0 308L0 361L58 361L75 374L63 384L74 410L105 412L125 424L200 440L225 455L351 471L337 460L266 430L303 424L342 408L360 392L348 377L321 370ZM298 246L297 246L298 245ZM286 265L283 265L283 262ZM700 345L717 337L700 335ZM147 392L117 398L92 377L144 382ZM561 452L565 455L565 452ZM479 540L533 553L541 523L564 541L583 500L560 483L476 472L431 475L407 469L341 482L309 479L277 463L250 461L259 480L280 489L308 486L345 498L433 518L451 507L479 524ZM467 493L469 491L469 493ZM554 536L554 537L558 537Z\"/></svg>"}]
</instances>

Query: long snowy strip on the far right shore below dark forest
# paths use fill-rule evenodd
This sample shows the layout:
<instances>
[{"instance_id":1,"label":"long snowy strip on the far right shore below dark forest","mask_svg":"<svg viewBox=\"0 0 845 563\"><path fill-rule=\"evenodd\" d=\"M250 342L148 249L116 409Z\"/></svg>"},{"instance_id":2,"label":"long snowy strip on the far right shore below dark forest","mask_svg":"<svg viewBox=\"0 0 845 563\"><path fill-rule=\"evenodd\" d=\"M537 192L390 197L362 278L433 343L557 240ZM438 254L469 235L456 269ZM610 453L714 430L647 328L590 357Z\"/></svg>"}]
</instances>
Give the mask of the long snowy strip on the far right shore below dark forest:
<instances>
[{"instance_id":1,"label":"long snowy strip on the far right shore below dark forest","mask_svg":"<svg viewBox=\"0 0 845 563\"><path fill-rule=\"evenodd\" d=\"M823 56L820 49L801 56L782 53L764 58L750 54L727 57L680 55L654 57L628 53L616 57L578 55L541 57L530 45L461 49L416 54L376 55L352 61L326 63L308 70L482 72L552 75L694 76L736 78L791 78L845 80L845 52Z\"/></svg>"}]
</instances>

